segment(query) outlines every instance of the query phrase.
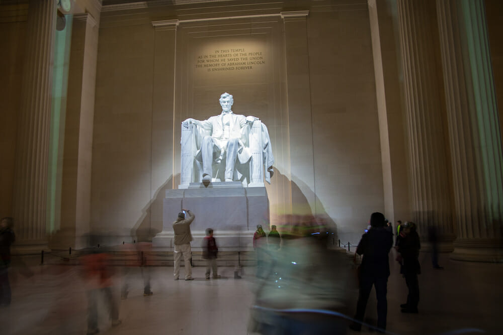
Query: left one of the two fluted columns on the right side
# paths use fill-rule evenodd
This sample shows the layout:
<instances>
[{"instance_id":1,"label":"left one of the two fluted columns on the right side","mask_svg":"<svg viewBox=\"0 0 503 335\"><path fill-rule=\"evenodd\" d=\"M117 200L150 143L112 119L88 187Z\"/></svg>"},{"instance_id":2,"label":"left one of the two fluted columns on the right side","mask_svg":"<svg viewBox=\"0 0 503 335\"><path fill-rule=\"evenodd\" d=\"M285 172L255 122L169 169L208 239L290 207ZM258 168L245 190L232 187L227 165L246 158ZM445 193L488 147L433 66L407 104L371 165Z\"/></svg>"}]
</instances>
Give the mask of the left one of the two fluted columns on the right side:
<instances>
[{"instance_id":1,"label":"left one of the two fluted columns on the right side","mask_svg":"<svg viewBox=\"0 0 503 335\"><path fill-rule=\"evenodd\" d=\"M423 236L426 227L433 225L444 241L452 241L450 163L432 19L435 3L398 0L397 5L413 219ZM445 247L452 250L452 245Z\"/></svg>"}]
</instances>

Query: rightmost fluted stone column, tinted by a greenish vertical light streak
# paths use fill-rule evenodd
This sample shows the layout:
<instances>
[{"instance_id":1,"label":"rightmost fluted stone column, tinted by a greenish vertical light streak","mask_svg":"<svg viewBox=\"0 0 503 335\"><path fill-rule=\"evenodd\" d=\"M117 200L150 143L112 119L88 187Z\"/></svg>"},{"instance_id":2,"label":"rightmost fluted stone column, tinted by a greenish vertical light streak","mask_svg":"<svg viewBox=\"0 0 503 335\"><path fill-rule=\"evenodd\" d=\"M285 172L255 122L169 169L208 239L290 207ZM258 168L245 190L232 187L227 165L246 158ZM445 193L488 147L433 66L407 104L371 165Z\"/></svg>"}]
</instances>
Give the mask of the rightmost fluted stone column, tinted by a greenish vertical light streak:
<instances>
[{"instance_id":1,"label":"rightmost fluted stone column, tinted by a greenish vertical light streak","mask_svg":"<svg viewBox=\"0 0 503 335\"><path fill-rule=\"evenodd\" d=\"M501 261L503 159L484 3L437 0L454 188L453 259Z\"/></svg>"}]
</instances>

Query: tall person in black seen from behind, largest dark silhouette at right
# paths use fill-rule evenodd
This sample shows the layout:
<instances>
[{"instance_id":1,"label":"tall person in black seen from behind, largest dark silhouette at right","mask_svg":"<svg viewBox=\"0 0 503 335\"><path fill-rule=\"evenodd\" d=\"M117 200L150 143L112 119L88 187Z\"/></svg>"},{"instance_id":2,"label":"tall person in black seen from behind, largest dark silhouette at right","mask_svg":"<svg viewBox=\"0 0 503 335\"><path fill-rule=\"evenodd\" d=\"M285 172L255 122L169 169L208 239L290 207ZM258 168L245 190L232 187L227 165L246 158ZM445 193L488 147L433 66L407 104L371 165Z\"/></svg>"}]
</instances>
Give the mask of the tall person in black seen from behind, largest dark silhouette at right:
<instances>
[{"instance_id":1,"label":"tall person in black seen from behind, largest dark silhouette at right","mask_svg":"<svg viewBox=\"0 0 503 335\"><path fill-rule=\"evenodd\" d=\"M384 332L388 310L387 284L390 275L388 254L393 246L393 235L386 230L384 215L380 212L372 213L370 226L371 229L362 236L356 249L356 253L363 255L363 259L359 268L360 294L356 307L356 320L350 328L361 330L367 301L374 286L377 297L377 327L378 331Z\"/></svg>"}]
</instances>

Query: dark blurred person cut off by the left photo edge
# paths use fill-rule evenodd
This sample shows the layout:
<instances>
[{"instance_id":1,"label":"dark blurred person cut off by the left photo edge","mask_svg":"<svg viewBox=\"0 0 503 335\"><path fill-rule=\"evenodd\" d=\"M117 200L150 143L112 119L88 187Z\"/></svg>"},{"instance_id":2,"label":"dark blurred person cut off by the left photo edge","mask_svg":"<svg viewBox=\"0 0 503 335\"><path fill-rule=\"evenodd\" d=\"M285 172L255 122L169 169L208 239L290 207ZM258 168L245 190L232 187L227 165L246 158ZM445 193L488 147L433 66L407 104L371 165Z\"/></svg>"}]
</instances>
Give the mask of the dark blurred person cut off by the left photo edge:
<instances>
[{"instance_id":1,"label":"dark blurred person cut off by the left photo edge","mask_svg":"<svg viewBox=\"0 0 503 335\"><path fill-rule=\"evenodd\" d=\"M11 245L16 241L12 227L14 219L3 217L0 221L0 306L11 304L11 284L8 269L11 265Z\"/></svg>"}]
</instances>

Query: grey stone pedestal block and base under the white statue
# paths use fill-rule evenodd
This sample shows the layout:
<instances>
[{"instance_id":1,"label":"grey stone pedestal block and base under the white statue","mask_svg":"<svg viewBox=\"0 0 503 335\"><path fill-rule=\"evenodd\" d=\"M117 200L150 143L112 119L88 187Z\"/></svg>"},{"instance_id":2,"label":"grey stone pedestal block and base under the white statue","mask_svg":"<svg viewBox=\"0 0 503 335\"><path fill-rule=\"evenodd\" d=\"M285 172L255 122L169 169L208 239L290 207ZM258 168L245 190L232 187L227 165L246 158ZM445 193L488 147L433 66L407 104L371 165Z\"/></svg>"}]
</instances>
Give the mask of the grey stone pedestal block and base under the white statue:
<instances>
[{"instance_id":1,"label":"grey stone pedestal block and base under the white statue","mask_svg":"<svg viewBox=\"0 0 503 335\"><path fill-rule=\"evenodd\" d=\"M265 187L244 188L239 181L190 183L187 189L166 190L162 232L152 239L155 248L173 250L173 222L182 208L195 215L191 224L192 249L201 250L205 230L212 228L220 251L251 250L257 225L269 230L269 199Z\"/></svg>"}]
</instances>

